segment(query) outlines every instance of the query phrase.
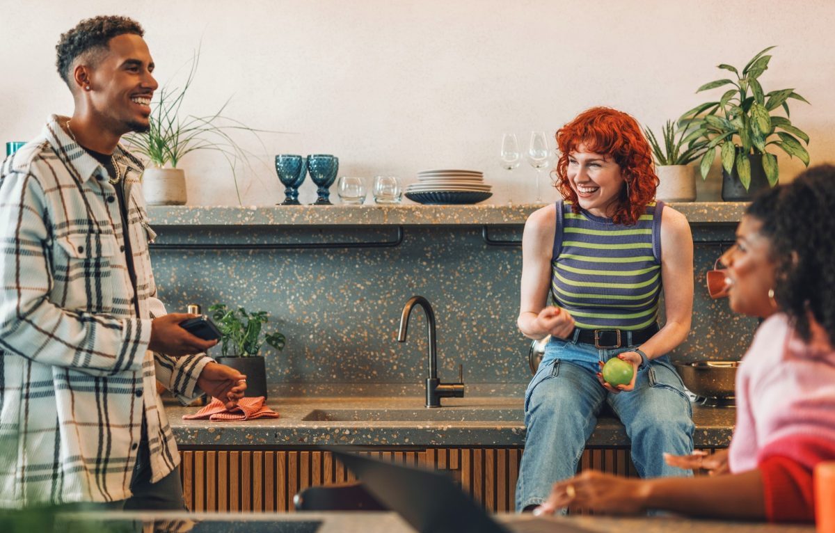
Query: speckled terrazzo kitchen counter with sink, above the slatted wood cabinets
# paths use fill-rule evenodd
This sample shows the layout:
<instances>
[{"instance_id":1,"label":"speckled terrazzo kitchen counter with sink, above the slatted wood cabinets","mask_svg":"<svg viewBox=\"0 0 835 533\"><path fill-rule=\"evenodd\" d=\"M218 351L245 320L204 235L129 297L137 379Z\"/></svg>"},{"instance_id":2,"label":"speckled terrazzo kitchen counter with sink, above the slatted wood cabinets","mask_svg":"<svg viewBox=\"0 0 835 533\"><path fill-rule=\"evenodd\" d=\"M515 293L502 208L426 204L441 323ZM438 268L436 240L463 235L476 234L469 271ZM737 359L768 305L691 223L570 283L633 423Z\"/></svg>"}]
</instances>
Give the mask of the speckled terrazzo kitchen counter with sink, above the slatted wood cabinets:
<instances>
[{"instance_id":1,"label":"speckled terrazzo kitchen counter with sink, above the slatted wood cabinets","mask_svg":"<svg viewBox=\"0 0 835 533\"><path fill-rule=\"evenodd\" d=\"M477 395L480 392L480 395ZM196 407L166 406L177 443L185 446L523 446L523 397L443 398L427 409L422 396L281 397L269 407L278 419L245 422L184 420ZM723 447L731 439L736 409L693 405L696 447ZM589 446L628 446L620 421L601 416Z\"/></svg>"}]
</instances>

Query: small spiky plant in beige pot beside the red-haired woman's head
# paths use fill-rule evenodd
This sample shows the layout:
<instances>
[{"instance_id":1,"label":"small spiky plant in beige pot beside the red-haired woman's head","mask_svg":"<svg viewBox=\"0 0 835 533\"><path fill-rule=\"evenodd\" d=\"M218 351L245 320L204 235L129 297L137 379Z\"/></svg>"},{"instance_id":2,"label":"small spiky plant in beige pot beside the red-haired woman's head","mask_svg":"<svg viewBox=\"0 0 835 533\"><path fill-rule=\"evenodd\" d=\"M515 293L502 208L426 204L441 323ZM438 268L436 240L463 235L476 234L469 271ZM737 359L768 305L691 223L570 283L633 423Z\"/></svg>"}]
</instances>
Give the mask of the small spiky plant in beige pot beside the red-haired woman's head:
<instances>
[{"instance_id":1,"label":"small spiky plant in beige pot beside the red-haired woman's head","mask_svg":"<svg viewBox=\"0 0 835 533\"><path fill-rule=\"evenodd\" d=\"M706 140L686 145L685 138L691 124L676 126L671 120L661 127L661 140L649 128L644 128L646 140L652 148L655 160L655 174L658 175L658 188L655 199L660 201L695 201L696 167L690 165L707 150Z\"/></svg>"}]
</instances>

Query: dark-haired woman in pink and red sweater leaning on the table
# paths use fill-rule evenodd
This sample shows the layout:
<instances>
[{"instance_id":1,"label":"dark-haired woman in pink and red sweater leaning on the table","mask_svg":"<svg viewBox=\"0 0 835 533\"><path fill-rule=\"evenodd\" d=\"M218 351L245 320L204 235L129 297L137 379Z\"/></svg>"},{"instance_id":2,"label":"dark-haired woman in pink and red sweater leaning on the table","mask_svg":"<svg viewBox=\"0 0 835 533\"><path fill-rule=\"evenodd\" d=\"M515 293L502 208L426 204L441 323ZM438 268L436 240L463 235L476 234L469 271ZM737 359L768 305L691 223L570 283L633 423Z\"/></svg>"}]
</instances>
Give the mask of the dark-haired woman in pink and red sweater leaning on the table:
<instances>
[{"instance_id":1,"label":"dark-haired woman in pink and red sweater leaning on the table","mask_svg":"<svg viewBox=\"0 0 835 533\"><path fill-rule=\"evenodd\" d=\"M807 170L749 206L722 256L731 308L766 320L736 374L728 451L667 457L710 477L627 480L594 470L554 485L540 513L814 520L812 469L835 459L835 166ZM658 450L662 453L664 450Z\"/></svg>"}]
</instances>

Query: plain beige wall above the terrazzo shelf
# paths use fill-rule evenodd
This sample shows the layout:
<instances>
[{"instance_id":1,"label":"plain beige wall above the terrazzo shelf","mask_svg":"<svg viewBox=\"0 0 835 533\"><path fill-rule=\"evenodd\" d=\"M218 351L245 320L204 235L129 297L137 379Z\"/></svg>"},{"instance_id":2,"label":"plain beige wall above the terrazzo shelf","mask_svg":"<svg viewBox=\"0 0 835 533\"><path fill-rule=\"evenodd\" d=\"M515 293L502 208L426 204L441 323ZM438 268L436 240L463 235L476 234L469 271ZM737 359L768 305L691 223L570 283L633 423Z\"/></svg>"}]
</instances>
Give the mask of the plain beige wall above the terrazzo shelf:
<instances>
[{"instance_id":1,"label":"plain beige wall above the terrazzo shelf","mask_svg":"<svg viewBox=\"0 0 835 533\"><path fill-rule=\"evenodd\" d=\"M773 51L766 90L793 87L811 106L792 120L812 138L812 162L835 160L835 2L704 0L611 2L525 0L276 1L145 0L73 3L3 0L0 18L0 140L37 135L72 100L55 73L58 35L80 18L137 18L161 83L188 61L202 38L200 70L187 108L208 114L234 95L228 114L266 134L266 150L241 138L253 170L243 169L244 202L283 195L272 156L339 155L340 174L393 173L406 182L438 167L484 171L492 202L533 200L534 170L498 168L504 130L526 145L531 129L553 132L591 105L605 104L658 127L706 101L694 94L740 65ZM711 93L718 98L718 94ZM782 152L781 152L782 154ZM778 155L782 179L802 169ZM202 153L186 159L190 203L235 204L228 167ZM700 185L716 197L718 173ZM314 187L302 187L311 201Z\"/></svg>"}]
</instances>

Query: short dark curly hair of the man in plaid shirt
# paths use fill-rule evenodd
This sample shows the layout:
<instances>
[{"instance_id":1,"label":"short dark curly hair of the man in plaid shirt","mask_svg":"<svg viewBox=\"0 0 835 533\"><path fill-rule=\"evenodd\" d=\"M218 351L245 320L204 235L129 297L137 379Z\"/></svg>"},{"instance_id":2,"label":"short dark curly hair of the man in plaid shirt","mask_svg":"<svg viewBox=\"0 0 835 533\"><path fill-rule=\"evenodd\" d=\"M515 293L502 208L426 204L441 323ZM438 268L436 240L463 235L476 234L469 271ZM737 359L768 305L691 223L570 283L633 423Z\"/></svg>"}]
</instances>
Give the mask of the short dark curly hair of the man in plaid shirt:
<instances>
[{"instance_id":1,"label":"short dark curly hair of the man in plaid shirt","mask_svg":"<svg viewBox=\"0 0 835 533\"><path fill-rule=\"evenodd\" d=\"M72 78L70 69L73 61L81 55L107 51L110 39L124 33L133 33L142 37L145 30L132 18L102 15L85 18L75 28L63 33L58 44L55 45L58 51L55 66L58 67L61 79L72 88L73 84L69 79ZM96 61L97 58L91 57L91 60Z\"/></svg>"}]
</instances>

